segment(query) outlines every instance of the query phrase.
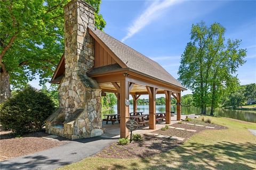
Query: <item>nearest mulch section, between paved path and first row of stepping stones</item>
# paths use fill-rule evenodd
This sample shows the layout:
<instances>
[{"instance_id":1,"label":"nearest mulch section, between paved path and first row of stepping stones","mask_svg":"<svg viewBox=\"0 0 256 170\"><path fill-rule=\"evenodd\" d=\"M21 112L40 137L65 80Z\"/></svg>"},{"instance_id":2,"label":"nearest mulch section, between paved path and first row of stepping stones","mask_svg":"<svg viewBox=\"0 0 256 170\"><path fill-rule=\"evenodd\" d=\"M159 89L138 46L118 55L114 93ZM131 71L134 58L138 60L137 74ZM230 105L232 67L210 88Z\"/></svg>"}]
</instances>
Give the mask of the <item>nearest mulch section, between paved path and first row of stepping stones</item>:
<instances>
[{"instance_id":1,"label":"nearest mulch section, between paved path and first row of stepping stones","mask_svg":"<svg viewBox=\"0 0 256 170\"><path fill-rule=\"evenodd\" d=\"M98 152L94 157L102 158L145 158L169 151L182 144L182 141L143 136L142 141L132 141L127 145L113 143Z\"/></svg>"}]
</instances>

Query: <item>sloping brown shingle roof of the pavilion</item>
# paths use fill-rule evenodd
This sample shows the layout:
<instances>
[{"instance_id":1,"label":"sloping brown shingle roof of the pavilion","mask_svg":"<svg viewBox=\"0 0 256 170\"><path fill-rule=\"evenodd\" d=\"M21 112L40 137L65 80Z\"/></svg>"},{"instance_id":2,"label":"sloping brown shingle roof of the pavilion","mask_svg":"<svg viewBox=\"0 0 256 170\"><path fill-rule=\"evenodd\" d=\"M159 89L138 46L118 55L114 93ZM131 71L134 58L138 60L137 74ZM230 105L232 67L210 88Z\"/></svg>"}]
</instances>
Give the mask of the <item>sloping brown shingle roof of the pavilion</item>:
<instances>
[{"instance_id":1,"label":"sloping brown shingle roof of the pavilion","mask_svg":"<svg viewBox=\"0 0 256 170\"><path fill-rule=\"evenodd\" d=\"M148 76L161 79L166 83L186 89L157 62L147 58L147 56L133 50L133 48L119 42L108 34L103 33L99 29L95 30L90 27L89 29L110 48L110 50L126 65L127 68L131 68Z\"/></svg>"}]
</instances>

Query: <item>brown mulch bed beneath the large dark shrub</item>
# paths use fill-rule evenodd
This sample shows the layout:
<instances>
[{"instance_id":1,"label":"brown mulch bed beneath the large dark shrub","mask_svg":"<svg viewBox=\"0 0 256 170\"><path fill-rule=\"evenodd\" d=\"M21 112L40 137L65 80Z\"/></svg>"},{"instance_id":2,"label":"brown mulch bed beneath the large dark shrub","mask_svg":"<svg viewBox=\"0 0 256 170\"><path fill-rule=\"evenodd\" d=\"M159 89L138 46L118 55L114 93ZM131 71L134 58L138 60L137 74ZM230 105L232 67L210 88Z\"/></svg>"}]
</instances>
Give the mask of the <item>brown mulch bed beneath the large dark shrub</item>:
<instances>
[{"instance_id":1,"label":"brown mulch bed beneath the large dark shrub","mask_svg":"<svg viewBox=\"0 0 256 170\"><path fill-rule=\"evenodd\" d=\"M35 132L15 137L11 131L0 131L0 161L58 147L67 142L63 137L58 137L58 140L42 138L47 135L49 134Z\"/></svg>"}]
</instances>

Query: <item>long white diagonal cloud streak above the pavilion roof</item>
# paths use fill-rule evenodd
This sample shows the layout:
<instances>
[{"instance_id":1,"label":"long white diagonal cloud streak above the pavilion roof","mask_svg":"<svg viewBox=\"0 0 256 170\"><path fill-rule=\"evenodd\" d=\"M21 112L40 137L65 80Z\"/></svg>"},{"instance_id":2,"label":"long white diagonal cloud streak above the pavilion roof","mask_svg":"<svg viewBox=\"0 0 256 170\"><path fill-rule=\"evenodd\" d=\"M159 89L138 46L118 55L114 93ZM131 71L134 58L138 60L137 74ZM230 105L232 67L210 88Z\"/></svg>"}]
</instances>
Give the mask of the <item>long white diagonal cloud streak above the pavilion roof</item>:
<instances>
[{"instance_id":1,"label":"long white diagonal cloud streak above the pavilion roof","mask_svg":"<svg viewBox=\"0 0 256 170\"><path fill-rule=\"evenodd\" d=\"M169 6L177 4L181 1L174 0L164 0L164 1L154 1L145 9L137 19L135 19L132 23L132 26L128 28L128 33L122 39L124 42L126 39L132 37L134 34L138 33L143 27L148 25L150 22L154 21L158 17L161 16L161 12Z\"/></svg>"}]
</instances>

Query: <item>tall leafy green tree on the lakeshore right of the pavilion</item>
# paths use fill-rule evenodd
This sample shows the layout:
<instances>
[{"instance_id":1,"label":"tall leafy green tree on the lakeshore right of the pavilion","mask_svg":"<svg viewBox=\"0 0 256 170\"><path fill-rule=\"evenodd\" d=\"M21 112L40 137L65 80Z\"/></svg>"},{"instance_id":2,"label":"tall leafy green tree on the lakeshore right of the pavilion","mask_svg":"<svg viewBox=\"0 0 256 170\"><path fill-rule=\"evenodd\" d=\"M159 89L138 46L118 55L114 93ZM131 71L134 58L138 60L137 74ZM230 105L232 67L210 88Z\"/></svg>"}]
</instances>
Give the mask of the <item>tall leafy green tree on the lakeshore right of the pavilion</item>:
<instances>
[{"instance_id":1,"label":"tall leafy green tree on the lakeshore right of the pavilion","mask_svg":"<svg viewBox=\"0 0 256 170\"><path fill-rule=\"evenodd\" d=\"M241 40L228 41L225 44L226 29L219 23L209 28L204 22L191 28L191 41L181 56L179 80L193 91L195 106L206 114L206 106L211 106L211 115L220 103L221 95L228 83L241 66L246 55L245 49L239 49Z\"/></svg>"}]
</instances>

